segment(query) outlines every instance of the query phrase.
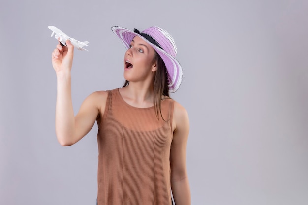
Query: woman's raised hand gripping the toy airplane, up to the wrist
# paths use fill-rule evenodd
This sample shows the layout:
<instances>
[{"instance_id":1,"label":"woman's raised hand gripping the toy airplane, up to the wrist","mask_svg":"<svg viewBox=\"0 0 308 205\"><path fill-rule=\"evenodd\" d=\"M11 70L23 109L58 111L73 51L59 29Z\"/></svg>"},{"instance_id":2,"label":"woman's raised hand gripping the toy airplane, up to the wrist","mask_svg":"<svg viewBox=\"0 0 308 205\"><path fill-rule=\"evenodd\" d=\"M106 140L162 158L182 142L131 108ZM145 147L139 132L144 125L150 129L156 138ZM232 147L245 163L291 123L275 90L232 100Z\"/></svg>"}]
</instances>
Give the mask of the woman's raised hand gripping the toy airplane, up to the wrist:
<instances>
[{"instance_id":1,"label":"woman's raised hand gripping the toy airplane, up to the wrist","mask_svg":"<svg viewBox=\"0 0 308 205\"><path fill-rule=\"evenodd\" d=\"M55 50L52 52L51 61L56 73L70 72L72 68L74 46L69 40L66 40L66 45L67 46L62 47L59 42Z\"/></svg>"}]
</instances>

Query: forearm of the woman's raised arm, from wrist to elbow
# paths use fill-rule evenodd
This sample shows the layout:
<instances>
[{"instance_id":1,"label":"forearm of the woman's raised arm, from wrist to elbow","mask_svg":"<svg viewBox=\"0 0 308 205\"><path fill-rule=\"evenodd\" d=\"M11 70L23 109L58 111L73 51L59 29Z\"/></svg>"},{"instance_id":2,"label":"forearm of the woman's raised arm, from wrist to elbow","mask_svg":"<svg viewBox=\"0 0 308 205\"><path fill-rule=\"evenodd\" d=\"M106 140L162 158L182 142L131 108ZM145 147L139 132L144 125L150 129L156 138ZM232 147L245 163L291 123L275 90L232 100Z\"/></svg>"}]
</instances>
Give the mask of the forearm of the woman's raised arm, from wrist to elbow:
<instances>
[{"instance_id":1,"label":"forearm of the woman's raised arm, from wrist to elbow","mask_svg":"<svg viewBox=\"0 0 308 205\"><path fill-rule=\"evenodd\" d=\"M73 143L75 118L71 98L71 77L57 73L56 135L62 146Z\"/></svg>"}]
</instances>

